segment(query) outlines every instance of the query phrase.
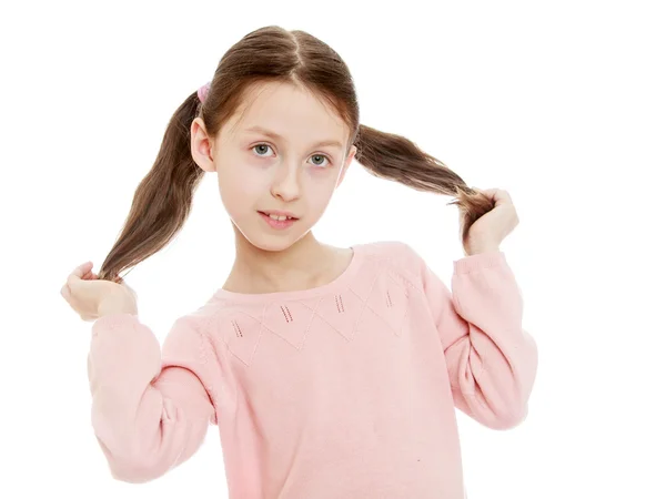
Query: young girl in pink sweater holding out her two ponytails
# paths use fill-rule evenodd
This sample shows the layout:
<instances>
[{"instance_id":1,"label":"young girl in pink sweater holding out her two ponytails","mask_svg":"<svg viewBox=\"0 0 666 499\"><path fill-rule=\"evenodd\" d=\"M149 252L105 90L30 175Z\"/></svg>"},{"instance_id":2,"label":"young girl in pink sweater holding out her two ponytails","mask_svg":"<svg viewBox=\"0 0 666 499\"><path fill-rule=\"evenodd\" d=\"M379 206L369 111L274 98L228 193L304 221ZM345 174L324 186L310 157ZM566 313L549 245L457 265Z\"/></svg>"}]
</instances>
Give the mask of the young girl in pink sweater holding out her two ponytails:
<instances>
[{"instance_id":1,"label":"young girl in pink sweater holding out her two ponytails","mask_svg":"<svg viewBox=\"0 0 666 499\"><path fill-rule=\"evenodd\" d=\"M406 244L315 240L352 160L456 196L465 257L452 291ZM186 220L218 175L236 256L224 285L160 346L119 276ZM173 115L100 273L62 295L94 320L92 426L119 480L155 479L216 425L231 498L465 496L454 408L508 429L537 350L501 241L505 191L475 191L408 140L359 122L345 63L303 31L256 30Z\"/></svg>"}]
</instances>

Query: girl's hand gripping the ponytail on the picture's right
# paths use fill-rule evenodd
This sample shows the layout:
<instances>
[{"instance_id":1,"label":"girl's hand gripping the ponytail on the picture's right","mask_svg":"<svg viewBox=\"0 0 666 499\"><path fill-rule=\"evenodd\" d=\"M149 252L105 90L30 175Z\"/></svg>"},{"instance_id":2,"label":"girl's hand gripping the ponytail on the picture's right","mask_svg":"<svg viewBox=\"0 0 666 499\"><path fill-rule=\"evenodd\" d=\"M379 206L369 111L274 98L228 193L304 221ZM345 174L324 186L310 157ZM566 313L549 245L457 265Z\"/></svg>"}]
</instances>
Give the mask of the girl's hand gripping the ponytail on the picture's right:
<instances>
[{"instance_id":1,"label":"girl's hand gripping the ponytail on the picture's right","mask_svg":"<svg viewBox=\"0 0 666 499\"><path fill-rule=\"evenodd\" d=\"M480 192L494 201L495 207L481 216L470 227L467 241L463 243L467 255L498 249L500 243L511 234L519 222L508 192L502 189L486 189Z\"/></svg>"}]
</instances>

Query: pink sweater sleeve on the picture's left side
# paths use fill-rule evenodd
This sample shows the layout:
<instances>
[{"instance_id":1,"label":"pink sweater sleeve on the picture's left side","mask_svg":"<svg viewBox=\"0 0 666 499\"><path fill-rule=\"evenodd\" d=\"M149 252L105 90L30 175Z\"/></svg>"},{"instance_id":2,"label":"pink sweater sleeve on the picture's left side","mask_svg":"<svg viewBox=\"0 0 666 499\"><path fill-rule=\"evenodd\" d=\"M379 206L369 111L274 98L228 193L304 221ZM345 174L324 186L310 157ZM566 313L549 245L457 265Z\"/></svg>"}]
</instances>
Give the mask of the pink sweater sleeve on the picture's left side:
<instances>
[{"instance_id":1,"label":"pink sweater sleeve on the picture's left side","mask_svg":"<svg viewBox=\"0 0 666 499\"><path fill-rule=\"evenodd\" d=\"M110 314L93 324L92 426L115 479L140 483L164 475L216 424L210 344L199 327L180 317L160 348L137 315Z\"/></svg>"}]
</instances>

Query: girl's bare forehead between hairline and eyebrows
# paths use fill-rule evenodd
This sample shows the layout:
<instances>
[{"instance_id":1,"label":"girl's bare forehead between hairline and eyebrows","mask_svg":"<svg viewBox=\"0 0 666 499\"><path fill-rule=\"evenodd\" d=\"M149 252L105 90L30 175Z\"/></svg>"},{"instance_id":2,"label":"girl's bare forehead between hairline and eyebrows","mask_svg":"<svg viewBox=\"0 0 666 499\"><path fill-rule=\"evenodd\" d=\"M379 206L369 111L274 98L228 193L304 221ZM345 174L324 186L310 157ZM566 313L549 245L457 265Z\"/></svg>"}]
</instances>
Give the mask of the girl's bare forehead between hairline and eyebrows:
<instances>
[{"instance_id":1,"label":"girl's bare forehead between hairline and eyebrows","mask_svg":"<svg viewBox=\"0 0 666 499\"><path fill-rule=\"evenodd\" d=\"M261 126L285 136L340 141L344 141L346 133L341 116L325 100L282 82L264 82L249 88L232 121L236 133Z\"/></svg>"}]
</instances>

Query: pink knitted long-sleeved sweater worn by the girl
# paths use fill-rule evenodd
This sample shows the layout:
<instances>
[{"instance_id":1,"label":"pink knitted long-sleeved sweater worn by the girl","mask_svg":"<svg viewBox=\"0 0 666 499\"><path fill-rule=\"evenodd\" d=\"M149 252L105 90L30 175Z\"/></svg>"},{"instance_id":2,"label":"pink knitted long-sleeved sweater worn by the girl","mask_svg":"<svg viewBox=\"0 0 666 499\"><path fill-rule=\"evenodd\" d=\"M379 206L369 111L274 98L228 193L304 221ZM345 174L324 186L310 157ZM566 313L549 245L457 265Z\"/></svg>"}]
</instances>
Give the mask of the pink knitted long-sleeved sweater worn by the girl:
<instances>
[{"instance_id":1,"label":"pink knitted long-sleeved sweater worn by the girl","mask_svg":"<svg viewBox=\"0 0 666 499\"><path fill-rule=\"evenodd\" d=\"M115 479L155 479L216 425L232 499L462 499L454 408L508 429L537 366L501 251L452 292L407 245L354 246L321 287L216 291L160 343L135 315L92 326L92 425Z\"/></svg>"}]
</instances>

